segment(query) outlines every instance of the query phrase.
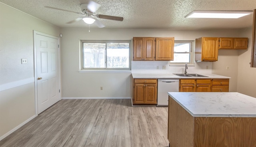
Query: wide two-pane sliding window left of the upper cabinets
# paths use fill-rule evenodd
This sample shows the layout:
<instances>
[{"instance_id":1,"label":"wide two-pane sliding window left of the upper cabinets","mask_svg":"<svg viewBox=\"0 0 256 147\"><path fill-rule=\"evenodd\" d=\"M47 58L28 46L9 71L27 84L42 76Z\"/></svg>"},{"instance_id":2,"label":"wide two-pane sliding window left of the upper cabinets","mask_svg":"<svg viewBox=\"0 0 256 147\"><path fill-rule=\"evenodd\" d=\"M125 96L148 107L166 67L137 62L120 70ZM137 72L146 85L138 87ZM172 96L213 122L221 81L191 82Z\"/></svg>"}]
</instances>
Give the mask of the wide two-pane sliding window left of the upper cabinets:
<instances>
[{"instance_id":1,"label":"wide two-pane sliding window left of the upper cabinets","mask_svg":"<svg viewBox=\"0 0 256 147\"><path fill-rule=\"evenodd\" d=\"M82 70L130 70L130 41L82 41Z\"/></svg>"}]
</instances>

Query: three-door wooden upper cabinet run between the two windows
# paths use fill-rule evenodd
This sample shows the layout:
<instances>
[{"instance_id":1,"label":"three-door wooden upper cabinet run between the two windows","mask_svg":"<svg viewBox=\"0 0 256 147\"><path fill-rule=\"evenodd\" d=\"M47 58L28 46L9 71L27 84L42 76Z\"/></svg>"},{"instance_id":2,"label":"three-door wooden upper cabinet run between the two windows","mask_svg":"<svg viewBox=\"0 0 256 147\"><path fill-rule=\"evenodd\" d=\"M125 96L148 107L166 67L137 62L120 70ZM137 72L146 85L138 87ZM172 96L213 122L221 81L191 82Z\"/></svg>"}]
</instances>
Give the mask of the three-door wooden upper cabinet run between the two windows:
<instances>
[{"instance_id":1,"label":"three-door wooden upper cabinet run between the two windows","mask_svg":"<svg viewBox=\"0 0 256 147\"><path fill-rule=\"evenodd\" d=\"M133 38L134 61L171 61L174 58L174 37L170 38Z\"/></svg>"}]
</instances>

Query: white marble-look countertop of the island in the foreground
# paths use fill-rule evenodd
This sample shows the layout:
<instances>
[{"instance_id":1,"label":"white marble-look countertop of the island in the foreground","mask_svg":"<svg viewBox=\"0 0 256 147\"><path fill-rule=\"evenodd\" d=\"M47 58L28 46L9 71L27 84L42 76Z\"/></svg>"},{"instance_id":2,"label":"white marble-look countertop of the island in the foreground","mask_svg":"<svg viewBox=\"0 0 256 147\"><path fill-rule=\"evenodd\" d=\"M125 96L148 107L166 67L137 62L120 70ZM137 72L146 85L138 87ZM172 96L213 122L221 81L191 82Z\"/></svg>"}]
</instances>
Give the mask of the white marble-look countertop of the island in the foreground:
<instances>
[{"instance_id":1,"label":"white marble-look countertop of the island in the foreground","mask_svg":"<svg viewBox=\"0 0 256 147\"><path fill-rule=\"evenodd\" d=\"M256 98L238 92L168 92L193 117L256 117Z\"/></svg>"}]
</instances>

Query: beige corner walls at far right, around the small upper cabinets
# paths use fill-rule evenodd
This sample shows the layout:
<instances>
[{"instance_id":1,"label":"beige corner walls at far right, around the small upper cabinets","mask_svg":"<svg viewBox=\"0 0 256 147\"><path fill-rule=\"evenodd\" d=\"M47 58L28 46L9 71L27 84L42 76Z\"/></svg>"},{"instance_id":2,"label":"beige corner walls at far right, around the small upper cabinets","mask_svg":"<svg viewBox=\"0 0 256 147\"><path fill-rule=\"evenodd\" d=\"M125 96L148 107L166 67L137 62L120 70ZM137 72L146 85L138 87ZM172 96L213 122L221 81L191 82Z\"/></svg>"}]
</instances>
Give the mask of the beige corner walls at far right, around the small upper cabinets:
<instances>
[{"instance_id":1,"label":"beige corner walls at far right, around the small upper cabinets","mask_svg":"<svg viewBox=\"0 0 256 147\"><path fill-rule=\"evenodd\" d=\"M234 37L234 36L233 36ZM256 97L256 68L250 68L252 28L239 30L238 36L248 38L247 50L219 50L218 61L212 64L212 74L231 77L230 92ZM226 70L226 66L230 70Z\"/></svg>"}]
</instances>

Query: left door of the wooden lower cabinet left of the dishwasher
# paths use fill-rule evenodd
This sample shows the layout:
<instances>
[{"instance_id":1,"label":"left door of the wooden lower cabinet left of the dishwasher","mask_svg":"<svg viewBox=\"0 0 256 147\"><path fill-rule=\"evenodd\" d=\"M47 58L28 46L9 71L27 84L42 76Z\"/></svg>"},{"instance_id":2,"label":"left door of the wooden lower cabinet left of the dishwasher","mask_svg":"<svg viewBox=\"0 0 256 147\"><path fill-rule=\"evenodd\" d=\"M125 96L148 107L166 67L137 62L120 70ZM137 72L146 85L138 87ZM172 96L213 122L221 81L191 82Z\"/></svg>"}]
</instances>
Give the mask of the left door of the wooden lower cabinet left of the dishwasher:
<instances>
[{"instance_id":1,"label":"left door of the wooden lower cabinet left of the dishwasher","mask_svg":"<svg viewBox=\"0 0 256 147\"><path fill-rule=\"evenodd\" d=\"M145 103L144 84L134 84L134 103Z\"/></svg>"}]
</instances>

